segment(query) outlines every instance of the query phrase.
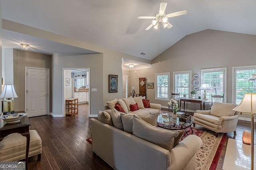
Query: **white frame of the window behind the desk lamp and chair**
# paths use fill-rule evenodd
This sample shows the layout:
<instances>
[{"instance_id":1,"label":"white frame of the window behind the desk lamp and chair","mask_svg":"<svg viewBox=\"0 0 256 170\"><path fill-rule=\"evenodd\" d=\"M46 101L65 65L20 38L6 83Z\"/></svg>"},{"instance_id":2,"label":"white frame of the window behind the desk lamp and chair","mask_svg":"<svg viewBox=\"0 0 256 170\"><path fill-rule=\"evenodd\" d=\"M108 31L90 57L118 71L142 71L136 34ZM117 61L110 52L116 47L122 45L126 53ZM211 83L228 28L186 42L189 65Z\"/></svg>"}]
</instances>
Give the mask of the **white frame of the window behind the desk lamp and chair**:
<instances>
[{"instance_id":1,"label":"white frame of the window behind the desk lamp and chair","mask_svg":"<svg viewBox=\"0 0 256 170\"><path fill-rule=\"evenodd\" d=\"M207 68L207 69L201 69L201 84L204 83L204 72L220 72L223 71L223 103L226 103L226 98L227 98L227 68L222 67L222 68ZM200 85L201 86L201 85ZM202 96L204 94L204 90L201 90L200 95ZM207 100L205 102L206 104L212 104L211 99Z\"/></svg>"}]
</instances>

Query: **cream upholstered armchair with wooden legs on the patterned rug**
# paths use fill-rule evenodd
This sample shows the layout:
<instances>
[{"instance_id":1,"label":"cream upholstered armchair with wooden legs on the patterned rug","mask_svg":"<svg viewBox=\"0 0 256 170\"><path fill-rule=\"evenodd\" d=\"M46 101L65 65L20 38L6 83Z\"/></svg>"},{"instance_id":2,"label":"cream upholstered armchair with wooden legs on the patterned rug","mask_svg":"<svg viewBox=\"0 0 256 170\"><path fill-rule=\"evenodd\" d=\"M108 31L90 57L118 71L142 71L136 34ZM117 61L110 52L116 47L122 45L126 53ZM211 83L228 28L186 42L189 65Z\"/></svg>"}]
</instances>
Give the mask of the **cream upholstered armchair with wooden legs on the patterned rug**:
<instances>
[{"instance_id":1,"label":"cream upholstered armchair with wooden legs on the patterned rug","mask_svg":"<svg viewBox=\"0 0 256 170\"><path fill-rule=\"evenodd\" d=\"M235 104L214 102L211 110L197 110L194 113L194 127L195 124L202 125L216 132L216 137L218 137L218 133L232 131L236 135L239 112L233 110L235 107Z\"/></svg>"}]
</instances>

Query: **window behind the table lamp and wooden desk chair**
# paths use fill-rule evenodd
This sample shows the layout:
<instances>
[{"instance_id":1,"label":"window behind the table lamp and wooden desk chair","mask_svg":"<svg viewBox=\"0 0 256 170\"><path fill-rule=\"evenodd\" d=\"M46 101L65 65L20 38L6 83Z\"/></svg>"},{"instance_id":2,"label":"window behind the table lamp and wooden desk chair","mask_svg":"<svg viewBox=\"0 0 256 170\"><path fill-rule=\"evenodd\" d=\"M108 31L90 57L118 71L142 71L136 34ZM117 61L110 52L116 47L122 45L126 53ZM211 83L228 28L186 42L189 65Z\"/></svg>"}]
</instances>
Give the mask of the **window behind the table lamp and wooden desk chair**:
<instances>
[{"instance_id":1,"label":"window behind the table lamp and wooden desk chair","mask_svg":"<svg viewBox=\"0 0 256 170\"><path fill-rule=\"evenodd\" d=\"M201 70L201 84L206 83L209 85L210 90L206 91L207 102L212 102L212 95L224 95L223 102L226 101L226 71L227 68L213 68ZM204 91L201 90L201 94Z\"/></svg>"}]
</instances>

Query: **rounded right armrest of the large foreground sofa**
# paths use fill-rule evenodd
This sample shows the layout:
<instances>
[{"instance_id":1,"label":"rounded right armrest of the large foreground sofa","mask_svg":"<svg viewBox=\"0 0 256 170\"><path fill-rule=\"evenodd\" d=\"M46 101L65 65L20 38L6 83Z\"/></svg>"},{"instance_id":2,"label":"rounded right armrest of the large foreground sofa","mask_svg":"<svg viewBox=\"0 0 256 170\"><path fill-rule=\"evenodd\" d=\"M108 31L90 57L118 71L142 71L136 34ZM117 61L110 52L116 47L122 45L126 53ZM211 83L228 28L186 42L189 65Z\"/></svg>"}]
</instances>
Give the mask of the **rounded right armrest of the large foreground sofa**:
<instances>
[{"instance_id":1,"label":"rounded right armrest of the large foreground sofa","mask_svg":"<svg viewBox=\"0 0 256 170\"><path fill-rule=\"evenodd\" d=\"M196 164L195 154L200 149L202 140L196 135L188 135L176 147L170 150L171 167L174 170L183 170L191 159ZM194 158L193 158L194 157Z\"/></svg>"}]
</instances>

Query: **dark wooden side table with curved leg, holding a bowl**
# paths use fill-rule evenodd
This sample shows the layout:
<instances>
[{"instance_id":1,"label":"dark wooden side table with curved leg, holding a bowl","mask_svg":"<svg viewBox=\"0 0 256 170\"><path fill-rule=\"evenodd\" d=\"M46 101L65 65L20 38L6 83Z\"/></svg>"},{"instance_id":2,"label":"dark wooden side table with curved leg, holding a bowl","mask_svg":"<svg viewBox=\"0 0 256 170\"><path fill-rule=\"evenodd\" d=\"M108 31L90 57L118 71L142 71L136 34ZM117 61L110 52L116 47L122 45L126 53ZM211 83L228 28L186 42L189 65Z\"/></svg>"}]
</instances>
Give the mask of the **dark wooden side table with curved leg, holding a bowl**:
<instances>
[{"instance_id":1,"label":"dark wooden side table with curved leg, holding a bowl","mask_svg":"<svg viewBox=\"0 0 256 170\"><path fill-rule=\"evenodd\" d=\"M15 113L26 113L25 111L16 111ZM27 138L26 145L26 170L28 170L28 150L30 143L30 134L29 134L30 122L28 116L24 116L20 119L19 123L6 123L2 119L0 120L0 142L4 137L10 135L11 133L20 133L22 136Z\"/></svg>"}]
</instances>

